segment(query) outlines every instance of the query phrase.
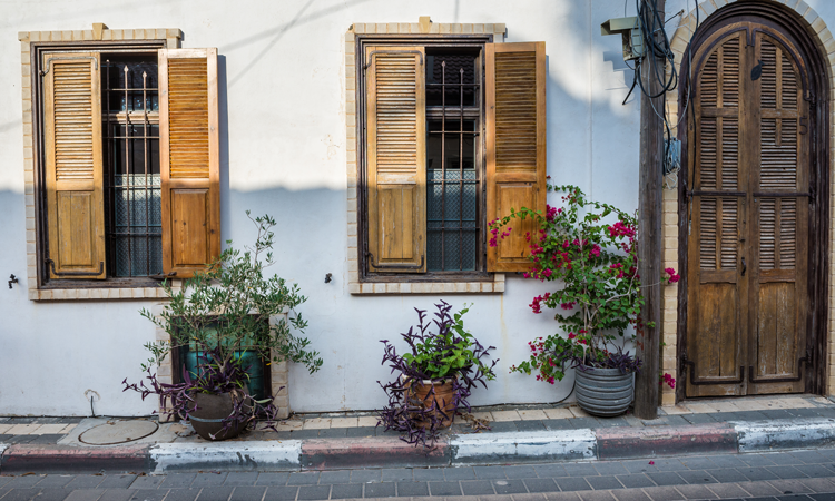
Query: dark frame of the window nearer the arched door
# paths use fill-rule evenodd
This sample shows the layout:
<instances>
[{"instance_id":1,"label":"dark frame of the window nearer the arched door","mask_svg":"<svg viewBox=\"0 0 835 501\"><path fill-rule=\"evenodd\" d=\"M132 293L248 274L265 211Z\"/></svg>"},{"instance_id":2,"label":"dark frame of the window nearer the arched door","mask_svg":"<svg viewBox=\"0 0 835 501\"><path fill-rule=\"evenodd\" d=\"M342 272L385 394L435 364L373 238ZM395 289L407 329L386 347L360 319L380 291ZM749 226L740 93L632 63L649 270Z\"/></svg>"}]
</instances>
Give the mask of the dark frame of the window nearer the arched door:
<instances>
[{"instance_id":1,"label":"dark frame of the window nearer the arched door","mask_svg":"<svg viewBox=\"0 0 835 501\"><path fill-rule=\"evenodd\" d=\"M485 91L485 46L493 42L492 35L357 35L354 65L356 68L356 198L357 198L357 250L360 262L360 281L365 283L391 283L391 282L430 282L430 283L454 283L454 282L492 282L493 273L487 271L487 166L484 161L487 151L487 124L484 109ZM397 273L397 272L369 272L369 218L367 218L367 157L366 157L366 89L365 89L365 48L369 46L407 47L421 46L428 51L435 49L462 49L479 51L479 69L481 78L480 134L478 135L479 153L475 164L478 169L478 217L479 229L477 237L477 269L472 272L436 271L425 273ZM430 110L426 110L426 120L430 119ZM426 168L426 166L424 166ZM429 185L429 184L428 184ZM428 223L424 222L424 225Z\"/></svg>"}]
</instances>

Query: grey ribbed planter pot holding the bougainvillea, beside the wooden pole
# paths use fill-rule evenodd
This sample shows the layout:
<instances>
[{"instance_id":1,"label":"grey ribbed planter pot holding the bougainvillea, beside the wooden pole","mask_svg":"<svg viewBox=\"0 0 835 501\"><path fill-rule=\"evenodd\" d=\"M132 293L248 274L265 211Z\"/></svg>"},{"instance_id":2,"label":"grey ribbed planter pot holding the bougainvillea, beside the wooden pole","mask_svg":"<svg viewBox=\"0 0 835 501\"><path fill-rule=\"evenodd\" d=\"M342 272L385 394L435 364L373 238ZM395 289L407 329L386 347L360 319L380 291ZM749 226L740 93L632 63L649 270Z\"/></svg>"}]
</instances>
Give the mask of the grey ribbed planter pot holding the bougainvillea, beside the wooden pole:
<instances>
[{"instance_id":1,"label":"grey ribbed planter pot holding the bougainvillea, beside the wooden pole","mask_svg":"<svg viewBox=\"0 0 835 501\"><path fill-rule=\"evenodd\" d=\"M635 374L620 369L577 370L577 403L589 414L620 415L629 409L635 395Z\"/></svg>"}]
</instances>

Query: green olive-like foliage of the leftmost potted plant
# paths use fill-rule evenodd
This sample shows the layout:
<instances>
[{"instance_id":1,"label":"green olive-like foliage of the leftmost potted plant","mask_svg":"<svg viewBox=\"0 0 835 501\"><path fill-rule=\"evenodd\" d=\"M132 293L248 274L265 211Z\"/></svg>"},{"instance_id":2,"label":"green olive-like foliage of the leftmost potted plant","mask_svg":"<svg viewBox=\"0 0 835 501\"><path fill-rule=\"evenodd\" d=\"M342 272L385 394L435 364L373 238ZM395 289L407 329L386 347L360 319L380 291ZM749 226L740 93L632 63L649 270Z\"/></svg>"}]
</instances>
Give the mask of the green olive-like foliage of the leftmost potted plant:
<instances>
[{"instance_id":1,"label":"green olive-like foliage of the leftmost potted plant","mask_svg":"<svg viewBox=\"0 0 835 501\"><path fill-rule=\"evenodd\" d=\"M163 283L169 302L158 316L145 308L140 311L170 336L170 342L145 345L151 358L143 364L143 370L159 365L174 346L212 352L210 360L198 357L198 364L216 367L239 365L244 350L257 351L263 360L272 358L272 363L304 364L311 373L322 366L318 353L306 350L310 341L293 334L293 331L303 334L307 326L295 310L307 298L297 284L287 285L284 278L266 277L264 273L275 264L272 253L275 219L268 215L253 218L248 210L246 215L257 227L253 247L244 247L242 252L227 240L226 250L207 271L184 281L180 289L174 289L167 281ZM198 376L199 373L200 367ZM243 386L244 382L239 383Z\"/></svg>"}]
</instances>

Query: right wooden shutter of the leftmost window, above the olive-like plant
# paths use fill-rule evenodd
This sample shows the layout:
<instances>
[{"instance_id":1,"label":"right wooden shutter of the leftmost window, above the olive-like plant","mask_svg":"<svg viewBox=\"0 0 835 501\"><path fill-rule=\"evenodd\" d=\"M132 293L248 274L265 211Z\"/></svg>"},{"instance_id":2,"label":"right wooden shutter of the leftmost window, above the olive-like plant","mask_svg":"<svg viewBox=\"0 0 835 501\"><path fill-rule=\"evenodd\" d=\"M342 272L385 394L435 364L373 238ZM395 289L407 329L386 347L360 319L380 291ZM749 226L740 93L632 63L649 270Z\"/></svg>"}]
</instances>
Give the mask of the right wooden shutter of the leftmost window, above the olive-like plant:
<instances>
[{"instance_id":1,"label":"right wooden shutter of the leftmost window, above the olive-like plant","mask_svg":"<svg viewBox=\"0 0 835 501\"><path fill-rule=\"evenodd\" d=\"M217 49L159 50L163 269L193 276L220 254Z\"/></svg>"}]
</instances>

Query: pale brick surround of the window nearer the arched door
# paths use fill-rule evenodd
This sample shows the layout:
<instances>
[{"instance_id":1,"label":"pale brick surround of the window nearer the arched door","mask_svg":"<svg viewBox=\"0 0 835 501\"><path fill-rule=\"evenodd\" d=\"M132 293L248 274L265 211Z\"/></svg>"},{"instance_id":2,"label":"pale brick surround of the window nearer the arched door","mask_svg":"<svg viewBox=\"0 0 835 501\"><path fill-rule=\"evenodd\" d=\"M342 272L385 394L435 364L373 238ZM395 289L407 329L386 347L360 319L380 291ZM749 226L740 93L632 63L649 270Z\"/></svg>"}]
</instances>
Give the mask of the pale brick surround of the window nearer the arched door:
<instances>
[{"instance_id":1,"label":"pale brick surround of the window nearer the arched door","mask_svg":"<svg viewBox=\"0 0 835 501\"><path fill-rule=\"evenodd\" d=\"M347 153L347 259L348 292L374 294L491 294L504 292L504 274L494 273L484 282L362 282L357 243L357 159L356 60L357 35L493 35L493 43L504 41L504 23L434 23L429 17L419 22L354 23L345 33L345 144Z\"/></svg>"}]
</instances>

